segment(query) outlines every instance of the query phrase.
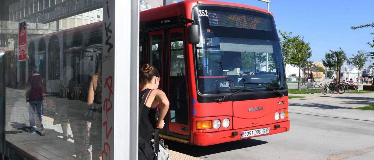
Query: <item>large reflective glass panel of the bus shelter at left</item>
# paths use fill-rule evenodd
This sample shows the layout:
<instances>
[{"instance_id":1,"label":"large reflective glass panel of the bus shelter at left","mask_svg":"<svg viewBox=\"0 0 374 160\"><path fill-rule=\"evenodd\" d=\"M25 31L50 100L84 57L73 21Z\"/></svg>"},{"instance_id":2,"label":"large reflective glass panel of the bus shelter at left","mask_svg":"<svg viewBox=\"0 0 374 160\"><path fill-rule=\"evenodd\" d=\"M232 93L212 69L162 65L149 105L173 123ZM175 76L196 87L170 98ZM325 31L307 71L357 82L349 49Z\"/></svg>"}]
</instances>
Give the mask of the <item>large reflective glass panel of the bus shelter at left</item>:
<instances>
[{"instance_id":1,"label":"large reflective glass panel of the bus shelter at left","mask_svg":"<svg viewBox=\"0 0 374 160\"><path fill-rule=\"evenodd\" d=\"M22 13L20 9L25 7L30 9L23 13L26 15L55 4L39 2L27 3L28 6L9 15ZM9 15L11 19L16 18ZM95 23L66 29L67 26L56 26L56 21L33 23L25 18L29 31L25 60L18 57L19 22L15 22L18 20L0 21L6 26L0 27L0 37L10 37L12 41L0 48L3 60L0 62L6 67L5 130L17 131L17 134L6 134L6 141L36 159L98 159L101 156L102 22L97 21L102 19L95 19L96 22L84 19ZM67 17L59 21L64 19ZM4 55L1 49L7 50ZM90 92L93 97L89 96ZM30 100L29 107L26 97ZM40 136L45 131L46 135Z\"/></svg>"}]
</instances>

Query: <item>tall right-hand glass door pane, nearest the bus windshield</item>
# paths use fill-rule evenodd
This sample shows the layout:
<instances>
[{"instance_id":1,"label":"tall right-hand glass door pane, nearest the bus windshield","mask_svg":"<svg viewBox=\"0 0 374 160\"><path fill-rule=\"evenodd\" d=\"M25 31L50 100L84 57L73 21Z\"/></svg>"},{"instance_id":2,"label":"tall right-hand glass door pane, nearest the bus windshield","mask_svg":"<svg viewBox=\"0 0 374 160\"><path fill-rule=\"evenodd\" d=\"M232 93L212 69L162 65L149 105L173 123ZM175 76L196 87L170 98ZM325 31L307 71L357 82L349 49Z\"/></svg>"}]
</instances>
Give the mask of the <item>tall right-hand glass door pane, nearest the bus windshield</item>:
<instances>
[{"instance_id":1,"label":"tall right-hand glass door pane, nearest the bus windshield","mask_svg":"<svg viewBox=\"0 0 374 160\"><path fill-rule=\"evenodd\" d=\"M189 135L186 73L182 28L170 30L170 132Z\"/></svg>"}]
</instances>

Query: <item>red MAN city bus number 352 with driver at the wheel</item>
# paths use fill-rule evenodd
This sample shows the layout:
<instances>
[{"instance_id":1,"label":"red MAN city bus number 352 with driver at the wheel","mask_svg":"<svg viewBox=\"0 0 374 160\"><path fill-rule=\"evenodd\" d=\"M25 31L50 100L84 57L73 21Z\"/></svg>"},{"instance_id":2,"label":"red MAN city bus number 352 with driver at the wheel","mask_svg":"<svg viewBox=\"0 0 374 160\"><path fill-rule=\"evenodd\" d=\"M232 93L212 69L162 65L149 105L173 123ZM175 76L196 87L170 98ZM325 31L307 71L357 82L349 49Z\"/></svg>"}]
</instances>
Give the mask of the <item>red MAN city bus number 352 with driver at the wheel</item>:
<instances>
[{"instance_id":1,"label":"red MAN city bus number 352 with driver at the wheel","mask_svg":"<svg viewBox=\"0 0 374 160\"><path fill-rule=\"evenodd\" d=\"M289 130L288 89L271 12L187 0L140 12L140 62L170 101L160 137L213 145Z\"/></svg>"}]
</instances>

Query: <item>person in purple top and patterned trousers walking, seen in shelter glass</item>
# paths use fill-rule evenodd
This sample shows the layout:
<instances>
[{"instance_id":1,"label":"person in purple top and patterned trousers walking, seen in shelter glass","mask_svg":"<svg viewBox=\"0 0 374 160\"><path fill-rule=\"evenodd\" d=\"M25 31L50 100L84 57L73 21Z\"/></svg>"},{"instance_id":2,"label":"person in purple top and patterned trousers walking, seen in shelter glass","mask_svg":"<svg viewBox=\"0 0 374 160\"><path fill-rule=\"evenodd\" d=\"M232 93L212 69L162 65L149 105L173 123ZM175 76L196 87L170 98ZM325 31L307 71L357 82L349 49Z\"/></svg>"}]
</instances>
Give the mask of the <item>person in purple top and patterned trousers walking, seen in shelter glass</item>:
<instances>
[{"instance_id":1,"label":"person in purple top and patterned trousers walking, seen in shelter glass","mask_svg":"<svg viewBox=\"0 0 374 160\"><path fill-rule=\"evenodd\" d=\"M28 82L31 84L31 89L26 93L26 105L28 107L29 121L31 129L27 132L30 134L35 134L35 109L38 113L40 120L40 128L42 133L40 135L44 136L46 131L42 123L42 114L43 114L43 92L42 92L42 83L43 79L37 71L37 67L31 67L32 75L28 78Z\"/></svg>"}]
</instances>

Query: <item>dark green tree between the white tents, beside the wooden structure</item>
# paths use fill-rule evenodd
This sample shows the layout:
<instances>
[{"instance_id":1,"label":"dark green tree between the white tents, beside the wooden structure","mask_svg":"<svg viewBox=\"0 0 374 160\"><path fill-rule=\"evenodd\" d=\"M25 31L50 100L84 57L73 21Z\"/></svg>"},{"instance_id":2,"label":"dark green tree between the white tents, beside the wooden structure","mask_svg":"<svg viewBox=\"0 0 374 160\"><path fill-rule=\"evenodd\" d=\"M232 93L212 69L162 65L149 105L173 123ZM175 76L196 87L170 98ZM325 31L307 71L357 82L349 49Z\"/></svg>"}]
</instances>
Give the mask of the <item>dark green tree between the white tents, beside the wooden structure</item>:
<instances>
[{"instance_id":1,"label":"dark green tree between the white tents, beside the wooden structure","mask_svg":"<svg viewBox=\"0 0 374 160\"><path fill-rule=\"evenodd\" d=\"M332 51L332 53L325 53L325 59L322 59L322 63L326 68L334 71L337 74L337 79L340 81L340 67L344 61L347 60L346 53L344 50Z\"/></svg>"}]
</instances>

